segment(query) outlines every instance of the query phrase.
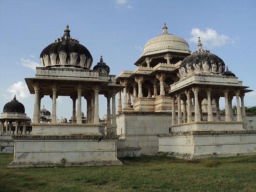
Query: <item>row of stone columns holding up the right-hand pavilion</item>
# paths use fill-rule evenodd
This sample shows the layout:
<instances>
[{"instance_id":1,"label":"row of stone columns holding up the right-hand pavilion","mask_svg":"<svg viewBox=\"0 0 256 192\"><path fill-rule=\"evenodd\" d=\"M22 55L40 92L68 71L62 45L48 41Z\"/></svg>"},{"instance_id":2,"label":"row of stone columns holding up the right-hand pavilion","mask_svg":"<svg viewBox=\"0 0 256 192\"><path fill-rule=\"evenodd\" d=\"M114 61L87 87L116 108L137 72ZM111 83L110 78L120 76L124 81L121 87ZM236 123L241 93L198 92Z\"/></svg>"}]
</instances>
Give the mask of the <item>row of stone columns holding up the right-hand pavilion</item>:
<instances>
[{"instance_id":1,"label":"row of stone columns holding up the right-hand pavilion","mask_svg":"<svg viewBox=\"0 0 256 192\"><path fill-rule=\"evenodd\" d=\"M194 110L195 110L195 122L202 121L202 101L198 97L200 89L199 88L192 88L192 92L194 93ZM208 106L208 121L213 121L213 113L212 113L212 96L211 96L211 89L206 89L207 95L207 106ZM183 123L192 122L192 112L191 112L191 102L190 102L190 94L191 91L185 91L186 97L182 97L181 94L176 94L171 98L172 100L172 125L176 124L176 111L175 111L175 100L177 99L178 104L178 124L182 123L182 111L181 111L181 100L183 101ZM232 98L229 95L228 90L223 91L224 98L225 98L225 121L230 122L234 121L234 116L232 112ZM245 107L244 107L244 93L240 93L240 90L235 92L236 102L237 102L237 113L236 118L238 122L244 121L246 128L246 114L245 114ZM240 107L240 100L241 98L241 107ZM219 106L219 99L220 97L214 98L216 100L216 118L217 121L221 121L220 119L220 106ZM188 102L186 102L188 101ZM187 104L186 104L187 103Z\"/></svg>"}]
</instances>

